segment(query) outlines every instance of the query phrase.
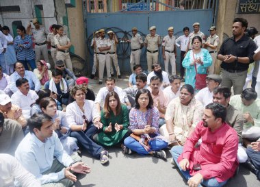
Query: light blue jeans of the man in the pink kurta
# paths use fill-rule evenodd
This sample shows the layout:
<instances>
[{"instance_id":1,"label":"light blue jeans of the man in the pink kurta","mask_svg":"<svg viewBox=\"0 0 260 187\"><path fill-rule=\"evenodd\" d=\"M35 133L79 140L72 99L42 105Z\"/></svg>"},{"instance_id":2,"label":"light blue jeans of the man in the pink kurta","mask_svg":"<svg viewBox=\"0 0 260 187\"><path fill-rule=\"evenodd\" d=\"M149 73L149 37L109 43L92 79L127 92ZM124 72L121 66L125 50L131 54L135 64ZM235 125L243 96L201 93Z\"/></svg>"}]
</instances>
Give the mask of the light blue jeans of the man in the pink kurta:
<instances>
[{"instance_id":1,"label":"light blue jeans of the man in the pink kurta","mask_svg":"<svg viewBox=\"0 0 260 187\"><path fill-rule=\"evenodd\" d=\"M183 174L183 177L185 177L185 179L189 180L192 175L190 175L190 171L186 170L183 171L179 165L179 163L177 162L177 159L179 158L179 155L181 155L181 153L183 152L183 147L182 146L174 146L172 147L172 149L170 149L170 153L172 154L172 158L174 159L175 163L177 164L179 170L181 171L181 173ZM215 177L205 180L203 179L203 181L201 182L201 184L203 184L204 186L207 187L221 187L224 186L224 184L226 184L227 180L224 182L218 182L216 180ZM199 185L201 186L201 185Z\"/></svg>"}]
</instances>

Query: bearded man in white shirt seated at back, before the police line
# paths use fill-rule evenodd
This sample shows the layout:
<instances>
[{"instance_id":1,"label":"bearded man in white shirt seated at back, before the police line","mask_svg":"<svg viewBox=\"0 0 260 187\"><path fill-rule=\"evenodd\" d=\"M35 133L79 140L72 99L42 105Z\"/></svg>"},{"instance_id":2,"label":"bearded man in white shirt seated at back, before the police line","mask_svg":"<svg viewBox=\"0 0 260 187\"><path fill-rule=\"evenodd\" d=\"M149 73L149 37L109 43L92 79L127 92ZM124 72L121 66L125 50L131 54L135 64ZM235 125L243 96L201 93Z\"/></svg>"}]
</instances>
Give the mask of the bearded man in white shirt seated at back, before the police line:
<instances>
[{"instance_id":1,"label":"bearded man in white shirt seated at back, before the police line","mask_svg":"<svg viewBox=\"0 0 260 187\"><path fill-rule=\"evenodd\" d=\"M169 81L168 73L166 73L165 71L161 71L160 64L157 64L157 63L153 64L152 68L153 68L153 71L147 75L147 84L150 85L151 77L156 75L161 79L161 88L162 89L169 86L170 81Z\"/></svg>"}]
</instances>

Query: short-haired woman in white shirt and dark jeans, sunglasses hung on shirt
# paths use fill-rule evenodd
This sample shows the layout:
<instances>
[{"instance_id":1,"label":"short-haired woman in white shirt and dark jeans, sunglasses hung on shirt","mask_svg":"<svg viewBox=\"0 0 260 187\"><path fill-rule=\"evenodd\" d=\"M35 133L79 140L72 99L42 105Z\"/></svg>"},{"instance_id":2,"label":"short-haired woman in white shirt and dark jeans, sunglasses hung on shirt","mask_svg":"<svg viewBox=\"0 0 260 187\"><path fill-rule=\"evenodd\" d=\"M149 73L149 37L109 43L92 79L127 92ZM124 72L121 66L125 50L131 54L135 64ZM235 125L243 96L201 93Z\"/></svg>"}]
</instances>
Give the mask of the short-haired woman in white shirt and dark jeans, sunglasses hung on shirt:
<instances>
[{"instance_id":1,"label":"short-haired woman in white shirt and dark jeans, sunglasses hung on shirt","mask_svg":"<svg viewBox=\"0 0 260 187\"><path fill-rule=\"evenodd\" d=\"M75 99L66 108L66 118L71 129L70 136L77 138L88 153L101 160L101 164L107 163L108 151L92 140L94 134L103 126L97 120L100 116L94 107L94 101L86 99L86 88L82 85L75 85L70 94Z\"/></svg>"}]
</instances>

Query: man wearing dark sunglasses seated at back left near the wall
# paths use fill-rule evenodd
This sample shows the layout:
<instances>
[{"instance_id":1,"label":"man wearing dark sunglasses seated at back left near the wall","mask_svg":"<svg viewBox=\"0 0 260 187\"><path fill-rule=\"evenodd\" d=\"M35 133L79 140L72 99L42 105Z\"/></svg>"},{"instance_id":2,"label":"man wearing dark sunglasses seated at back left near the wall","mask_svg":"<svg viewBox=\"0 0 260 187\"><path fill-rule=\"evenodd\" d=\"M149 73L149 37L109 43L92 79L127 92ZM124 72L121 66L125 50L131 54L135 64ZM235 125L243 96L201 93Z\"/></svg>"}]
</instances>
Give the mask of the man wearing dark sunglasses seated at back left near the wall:
<instances>
[{"instance_id":1,"label":"man wearing dark sunglasses seated at back left near the wall","mask_svg":"<svg viewBox=\"0 0 260 187\"><path fill-rule=\"evenodd\" d=\"M66 68L63 60L57 60L55 63L55 69L62 71L62 78L66 79L69 88L72 88L75 85L77 77L74 75L73 71Z\"/></svg>"}]
</instances>

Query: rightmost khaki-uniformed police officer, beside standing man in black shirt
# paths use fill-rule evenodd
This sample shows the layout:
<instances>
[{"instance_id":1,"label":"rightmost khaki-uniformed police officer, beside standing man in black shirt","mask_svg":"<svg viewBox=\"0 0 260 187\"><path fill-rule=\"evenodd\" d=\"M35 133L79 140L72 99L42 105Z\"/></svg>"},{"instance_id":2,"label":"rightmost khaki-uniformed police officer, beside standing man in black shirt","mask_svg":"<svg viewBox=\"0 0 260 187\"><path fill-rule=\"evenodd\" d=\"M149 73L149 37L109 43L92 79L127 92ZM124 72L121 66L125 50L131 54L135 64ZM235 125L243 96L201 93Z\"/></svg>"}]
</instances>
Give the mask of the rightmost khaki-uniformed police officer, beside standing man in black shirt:
<instances>
[{"instance_id":1,"label":"rightmost khaki-uniformed police officer, beside standing man in black shirt","mask_svg":"<svg viewBox=\"0 0 260 187\"><path fill-rule=\"evenodd\" d=\"M220 38L218 38L218 35L216 34L216 27L212 26L209 29L210 36L207 38L207 41L205 42L205 48L209 51L209 54L212 58L212 64L207 68L208 74L214 74L215 69L215 61L218 55L217 47L220 42Z\"/></svg>"}]
</instances>

